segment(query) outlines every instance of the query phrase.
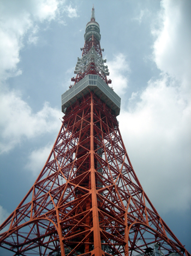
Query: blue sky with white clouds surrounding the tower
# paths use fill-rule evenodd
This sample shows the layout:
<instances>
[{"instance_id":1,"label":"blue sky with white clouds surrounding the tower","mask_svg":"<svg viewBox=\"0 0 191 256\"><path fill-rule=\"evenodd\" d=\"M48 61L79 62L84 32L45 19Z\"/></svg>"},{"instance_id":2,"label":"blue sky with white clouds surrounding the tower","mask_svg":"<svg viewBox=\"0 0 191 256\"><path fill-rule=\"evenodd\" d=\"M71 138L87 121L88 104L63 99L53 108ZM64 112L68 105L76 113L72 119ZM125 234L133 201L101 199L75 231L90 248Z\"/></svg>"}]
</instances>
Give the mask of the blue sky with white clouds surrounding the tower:
<instances>
[{"instance_id":1,"label":"blue sky with white clouds surrounding the tower","mask_svg":"<svg viewBox=\"0 0 191 256\"><path fill-rule=\"evenodd\" d=\"M0 222L49 156L93 3L128 155L191 252L189 0L0 0Z\"/></svg>"}]
</instances>

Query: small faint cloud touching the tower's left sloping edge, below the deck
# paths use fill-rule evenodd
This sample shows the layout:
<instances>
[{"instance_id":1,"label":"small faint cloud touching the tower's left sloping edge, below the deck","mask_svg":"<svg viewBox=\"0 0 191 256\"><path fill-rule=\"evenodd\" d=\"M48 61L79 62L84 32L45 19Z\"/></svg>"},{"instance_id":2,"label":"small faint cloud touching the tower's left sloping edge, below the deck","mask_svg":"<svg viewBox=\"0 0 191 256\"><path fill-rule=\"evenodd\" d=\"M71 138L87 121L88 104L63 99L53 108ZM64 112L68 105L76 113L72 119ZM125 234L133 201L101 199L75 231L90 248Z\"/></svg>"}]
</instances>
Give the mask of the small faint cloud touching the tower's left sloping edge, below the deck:
<instances>
[{"instance_id":1,"label":"small faint cloud touching the tower's left sloping edge, below the deck","mask_svg":"<svg viewBox=\"0 0 191 256\"><path fill-rule=\"evenodd\" d=\"M52 145L53 143L33 150L28 156L28 163L26 164L25 168L30 170L35 176L38 175L50 155Z\"/></svg>"}]
</instances>

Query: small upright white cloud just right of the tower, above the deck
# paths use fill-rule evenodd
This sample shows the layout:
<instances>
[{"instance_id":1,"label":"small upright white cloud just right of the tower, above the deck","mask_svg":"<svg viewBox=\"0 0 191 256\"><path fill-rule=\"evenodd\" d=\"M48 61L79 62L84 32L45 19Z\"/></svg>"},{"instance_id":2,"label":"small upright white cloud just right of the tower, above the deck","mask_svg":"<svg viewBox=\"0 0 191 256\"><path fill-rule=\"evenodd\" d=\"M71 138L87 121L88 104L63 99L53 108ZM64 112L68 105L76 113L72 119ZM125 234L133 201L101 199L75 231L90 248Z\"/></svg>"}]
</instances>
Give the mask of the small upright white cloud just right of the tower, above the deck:
<instances>
[{"instance_id":1,"label":"small upright white cloud just right of the tower, above the deck","mask_svg":"<svg viewBox=\"0 0 191 256\"><path fill-rule=\"evenodd\" d=\"M110 79L112 80L113 88L118 95L122 95L128 87L128 76L130 73L126 56L119 53L114 56L113 60L108 61L107 65L111 74Z\"/></svg>"}]
</instances>

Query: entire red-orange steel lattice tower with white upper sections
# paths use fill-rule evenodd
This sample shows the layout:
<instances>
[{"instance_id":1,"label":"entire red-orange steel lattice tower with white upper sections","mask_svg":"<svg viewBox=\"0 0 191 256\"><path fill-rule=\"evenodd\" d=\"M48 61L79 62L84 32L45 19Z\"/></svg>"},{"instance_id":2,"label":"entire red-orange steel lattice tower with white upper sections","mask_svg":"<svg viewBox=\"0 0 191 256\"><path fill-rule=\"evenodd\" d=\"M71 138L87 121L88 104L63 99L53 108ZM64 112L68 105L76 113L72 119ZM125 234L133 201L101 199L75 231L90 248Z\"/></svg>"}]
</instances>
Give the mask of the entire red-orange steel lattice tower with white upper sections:
<instances>
[{"instance_id":1,"label":"entire red-orange steel lattice tower with white upper sections","mask_svg":"<svg viewBox=\"0 0 191 256\"><path fill-rule=\"evenodd\" d=\"M136 177L117 116L100 28L92 8L73 85L62 94L61 129L34 185L1 225L11 255L190 254Z\"/></svg>"}]
</instances>

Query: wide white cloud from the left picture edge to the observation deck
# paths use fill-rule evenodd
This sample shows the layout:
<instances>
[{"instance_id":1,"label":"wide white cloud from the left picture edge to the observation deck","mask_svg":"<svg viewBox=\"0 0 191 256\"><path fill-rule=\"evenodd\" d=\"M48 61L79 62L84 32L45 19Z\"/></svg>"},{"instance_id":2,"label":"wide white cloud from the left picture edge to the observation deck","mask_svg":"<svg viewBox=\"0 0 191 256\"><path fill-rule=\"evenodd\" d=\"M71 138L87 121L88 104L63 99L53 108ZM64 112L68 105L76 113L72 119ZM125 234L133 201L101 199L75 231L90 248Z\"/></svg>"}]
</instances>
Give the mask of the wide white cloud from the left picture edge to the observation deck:
<instances>
[{"instance_id":1,"label":"wide white cloud from the left picture edge to the observation deck","mask_svg":"<svg viewBox=\"0 0 191 256\"><path fill-rule=\"evenodd\" d=\"M24 139L56 132L61 112L45 103L43 109L33 113L18 92L2 93L0 101L1 152L8 152Z\"/></svg>"}]
</instances>

